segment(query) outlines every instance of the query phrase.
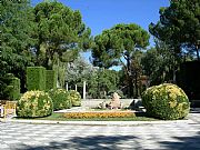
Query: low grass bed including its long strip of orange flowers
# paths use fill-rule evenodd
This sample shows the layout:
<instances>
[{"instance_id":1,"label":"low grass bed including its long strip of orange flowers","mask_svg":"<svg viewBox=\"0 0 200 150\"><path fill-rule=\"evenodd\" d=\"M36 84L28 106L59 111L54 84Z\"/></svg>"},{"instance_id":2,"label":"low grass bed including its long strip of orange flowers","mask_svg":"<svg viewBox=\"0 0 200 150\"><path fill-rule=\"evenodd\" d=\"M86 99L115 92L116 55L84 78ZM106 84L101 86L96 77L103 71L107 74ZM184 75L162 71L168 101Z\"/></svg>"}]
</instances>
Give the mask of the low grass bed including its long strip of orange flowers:
<instances>
[{"instance_id":1,"label":"low grass bed including its long strip of orange flowers","mask_svg":"<svg viewBox=\"0 0 200 150\"><path fill-rule=\"evenodd\" d=\"M24 118L16 118L24 119ZM29 118L26 118L29 119ZM107 112L53 112L43 118L30 118L34 120L51 121L158 121L158 119L148 117L144 112L132 111L107 111Z\"/></svg>"}]
</instances>

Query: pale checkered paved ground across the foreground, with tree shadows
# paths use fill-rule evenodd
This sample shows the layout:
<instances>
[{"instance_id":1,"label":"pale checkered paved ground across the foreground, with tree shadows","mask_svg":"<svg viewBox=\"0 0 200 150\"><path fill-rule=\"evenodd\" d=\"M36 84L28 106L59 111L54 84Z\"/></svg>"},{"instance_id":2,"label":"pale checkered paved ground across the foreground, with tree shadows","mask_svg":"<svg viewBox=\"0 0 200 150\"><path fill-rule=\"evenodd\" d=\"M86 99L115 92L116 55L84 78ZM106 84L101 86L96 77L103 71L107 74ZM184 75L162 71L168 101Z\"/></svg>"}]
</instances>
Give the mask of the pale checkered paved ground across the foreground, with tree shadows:
<instances>
[{"instance_id":1,"label":"pale checkered paved ground across the foreground, with tree shadows","mask_svg":"<svg viewBox=\"0 0 200 150\"><path fill-rule=\"evenodd\" d=\"M200 149L196 121L132 126L0 122L0 150Z\"/></svg>"}]
</instances>

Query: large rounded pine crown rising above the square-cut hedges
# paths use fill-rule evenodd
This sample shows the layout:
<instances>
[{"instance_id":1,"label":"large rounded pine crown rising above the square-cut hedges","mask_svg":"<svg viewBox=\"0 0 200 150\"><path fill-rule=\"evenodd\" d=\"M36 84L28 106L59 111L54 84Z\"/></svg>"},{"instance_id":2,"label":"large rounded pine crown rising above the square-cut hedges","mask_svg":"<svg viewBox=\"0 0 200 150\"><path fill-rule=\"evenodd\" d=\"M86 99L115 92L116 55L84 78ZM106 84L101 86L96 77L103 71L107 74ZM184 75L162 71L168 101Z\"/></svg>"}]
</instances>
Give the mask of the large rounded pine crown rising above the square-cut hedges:
<instances>
[{"instance_id":1,"label":"large rounded pine crown rising above the square-cut hedges","mask_svg":"<svg viewBox=\"0 0 200 150\"><path fill-rule=\"evenodd\" d=\"M38 23L39 64L52 68L58 59L72 61L80 49L90 47L90 29L82 22L79 11L53 1L37 4L33 12Z\"/></svg>"}]
</instances>

